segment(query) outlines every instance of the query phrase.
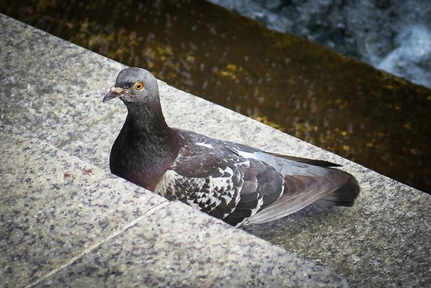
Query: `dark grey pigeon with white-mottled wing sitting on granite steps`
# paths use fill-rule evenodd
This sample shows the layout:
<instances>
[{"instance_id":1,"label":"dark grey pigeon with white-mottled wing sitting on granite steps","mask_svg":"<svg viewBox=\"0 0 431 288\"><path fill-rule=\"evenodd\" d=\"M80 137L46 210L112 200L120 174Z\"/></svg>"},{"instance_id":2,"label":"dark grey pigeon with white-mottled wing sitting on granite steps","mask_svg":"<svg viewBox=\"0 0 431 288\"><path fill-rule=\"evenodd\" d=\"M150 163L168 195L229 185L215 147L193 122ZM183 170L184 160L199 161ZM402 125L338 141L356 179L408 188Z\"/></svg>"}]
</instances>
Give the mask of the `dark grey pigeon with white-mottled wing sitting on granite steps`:
<instances>
[{"instance_id":1,"label":"dark grey pigeon with white-mottled wing sitting on granite steps","mask_svg":"<svg viewBox=\"0 0 431 288\"><path fill-rule=\"evenodd\" d=\"M103 102L127 117L109 155L111 173L235 227L274 221L311 203L353 206L359 184L338 164L262 151L171 128L156 78L127 67Z\"/></svg>"}]
</instances>

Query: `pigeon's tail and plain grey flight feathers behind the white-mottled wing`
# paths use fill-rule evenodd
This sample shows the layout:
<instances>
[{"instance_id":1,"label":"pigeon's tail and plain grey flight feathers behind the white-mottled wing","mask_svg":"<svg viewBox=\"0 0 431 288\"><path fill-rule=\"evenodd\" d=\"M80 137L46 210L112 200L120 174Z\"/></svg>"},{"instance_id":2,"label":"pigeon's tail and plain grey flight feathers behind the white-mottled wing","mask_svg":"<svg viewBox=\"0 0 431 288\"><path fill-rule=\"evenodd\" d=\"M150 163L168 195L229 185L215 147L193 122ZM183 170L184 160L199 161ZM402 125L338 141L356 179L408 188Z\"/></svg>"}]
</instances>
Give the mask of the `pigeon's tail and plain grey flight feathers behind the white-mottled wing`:
<instances>
[{"instance_id":1,"label":"pigeon's tail and plain grey flight feathers behind the white-mottled wing","mask_svg":"<svg viewBox=\"0 0 431 288\"><path fill-rule=\"evenodd\" d=\"M284 192L280 199L265 203L249 219L249 223L265 223L301 210L313 202L325 206L352 206L359 194L353 175L331 166L326 161L266 153L242 144L227 143L238 155L253 157L274 167L284 175Z\"/></svg>"}]
</instances>

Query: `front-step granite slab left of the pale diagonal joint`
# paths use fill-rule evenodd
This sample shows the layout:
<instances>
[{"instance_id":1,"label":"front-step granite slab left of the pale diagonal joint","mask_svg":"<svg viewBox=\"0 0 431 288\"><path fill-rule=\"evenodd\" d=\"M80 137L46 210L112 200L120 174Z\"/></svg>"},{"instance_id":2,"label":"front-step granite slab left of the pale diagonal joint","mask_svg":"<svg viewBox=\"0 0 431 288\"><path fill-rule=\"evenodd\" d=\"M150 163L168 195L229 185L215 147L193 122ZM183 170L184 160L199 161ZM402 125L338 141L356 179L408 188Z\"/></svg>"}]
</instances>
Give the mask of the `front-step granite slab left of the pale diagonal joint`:
<instances>
[{"instance_id":1,"label":"front-step granite slab left of the pale diagonal joint","mask_svg":"<svg viewBox=\"0 0 431 288\"><path fill-rule=\"evenodd\" d=\"M0 126L1 287L28 285L167 202L17 133Z\"/></svg>"}]
</instances>

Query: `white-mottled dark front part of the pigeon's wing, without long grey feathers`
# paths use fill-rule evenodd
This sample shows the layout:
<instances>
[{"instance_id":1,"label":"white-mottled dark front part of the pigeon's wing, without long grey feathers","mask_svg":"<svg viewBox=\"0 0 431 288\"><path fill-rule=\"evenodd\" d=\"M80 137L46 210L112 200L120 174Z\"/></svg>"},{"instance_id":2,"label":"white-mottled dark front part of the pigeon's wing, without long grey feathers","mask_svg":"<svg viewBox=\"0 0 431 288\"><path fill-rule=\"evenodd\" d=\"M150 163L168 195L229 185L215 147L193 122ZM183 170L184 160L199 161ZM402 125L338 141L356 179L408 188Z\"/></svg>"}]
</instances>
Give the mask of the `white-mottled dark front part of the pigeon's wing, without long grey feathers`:
<instances>
[{"instance_id":1,"label":"white-mottled dark front part of the pigeon's wing, without long grey feathers","mask_svg":"<svg viewBox=\"0 0 431 288\"><path fill-rule=\"evenodd\" d=\"M231 225L240 225L282 195L284 176L269 164L242 157L226 142L190 131L177 133L184 147L155 192Z\"/></svg>"}]
</instances>

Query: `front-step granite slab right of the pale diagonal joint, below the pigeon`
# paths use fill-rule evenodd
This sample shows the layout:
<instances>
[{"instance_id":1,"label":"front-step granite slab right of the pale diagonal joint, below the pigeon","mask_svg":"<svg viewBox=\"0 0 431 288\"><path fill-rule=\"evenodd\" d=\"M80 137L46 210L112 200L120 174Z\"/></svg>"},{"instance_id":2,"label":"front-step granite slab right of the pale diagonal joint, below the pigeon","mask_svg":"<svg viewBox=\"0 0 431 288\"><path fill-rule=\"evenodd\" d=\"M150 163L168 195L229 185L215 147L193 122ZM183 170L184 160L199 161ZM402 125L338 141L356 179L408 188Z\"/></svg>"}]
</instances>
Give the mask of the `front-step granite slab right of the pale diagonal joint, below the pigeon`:
<instances>
[{"instance_id":1,"label":"front-step granite slab right of the pale diagonal joint, below the pigeon","mask_svg":"<svg viewBox=\"0 0 431 288\"><path fill-rule=\"evenodd\" d=\"M172 202L38 287L317 287L349 283ZM196 229L199 227L200 229Z\"/></svg>"}]
</instances>

